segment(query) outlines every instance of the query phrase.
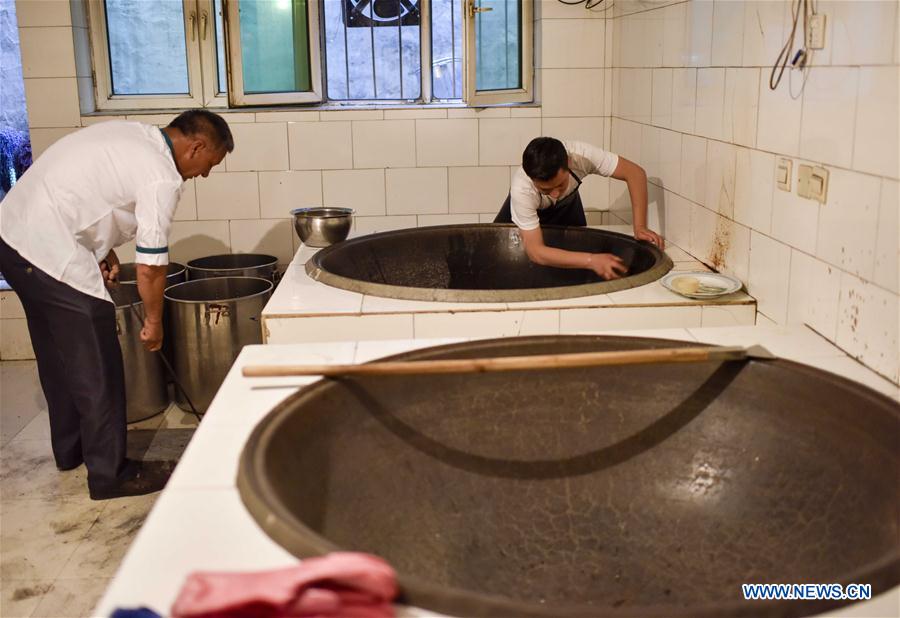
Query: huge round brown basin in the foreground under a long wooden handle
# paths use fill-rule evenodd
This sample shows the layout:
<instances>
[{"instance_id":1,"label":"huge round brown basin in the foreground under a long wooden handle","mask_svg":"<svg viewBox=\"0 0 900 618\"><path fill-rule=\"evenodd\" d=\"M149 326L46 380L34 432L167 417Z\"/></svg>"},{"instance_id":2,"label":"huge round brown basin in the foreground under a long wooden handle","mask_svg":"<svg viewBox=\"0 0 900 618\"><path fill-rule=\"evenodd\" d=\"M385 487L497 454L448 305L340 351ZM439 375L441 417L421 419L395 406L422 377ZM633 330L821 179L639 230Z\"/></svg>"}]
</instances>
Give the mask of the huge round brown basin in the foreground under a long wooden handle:
<instances>
[{"instance_id":1,"label":"huge round brown basin in the foreground under a long wooden handle","mask_svg":"<svg viewBox=\"0 0 900 618\"><path fill-rule=\"evenodd\" d=\"M478 341L394 358L684 345ZM742 583L900 582L900 405L752 361L322 380L244 447L238 487L297 556L371 552L456 616L805 616Z\"/></svg>"}]
</instances>

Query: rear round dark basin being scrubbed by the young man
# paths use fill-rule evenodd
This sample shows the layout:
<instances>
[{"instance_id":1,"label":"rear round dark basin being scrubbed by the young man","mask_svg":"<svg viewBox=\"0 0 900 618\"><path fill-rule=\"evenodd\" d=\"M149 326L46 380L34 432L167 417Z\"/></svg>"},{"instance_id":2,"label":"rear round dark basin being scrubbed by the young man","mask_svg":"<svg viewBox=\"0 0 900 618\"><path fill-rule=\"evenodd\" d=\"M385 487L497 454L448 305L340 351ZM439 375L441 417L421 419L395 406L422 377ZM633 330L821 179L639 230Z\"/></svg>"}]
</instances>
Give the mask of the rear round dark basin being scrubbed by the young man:
<instances>
[{"instance_id":1,"label":"rear round dark basin being scrubbed by the young man","mask_svg":"<svg viewBox=\"0 0 900 618\"><path fill-rule=\"evenodd\" d=\"M614 253L628 266L620 279L532 263L514 225L440 225L354 238L316 253L310 277L388 298L456 302L553 300L606 294L655 281L672 260L650 243L584 227L544 226L551 247Z\"/></svg>"}]
</instances>

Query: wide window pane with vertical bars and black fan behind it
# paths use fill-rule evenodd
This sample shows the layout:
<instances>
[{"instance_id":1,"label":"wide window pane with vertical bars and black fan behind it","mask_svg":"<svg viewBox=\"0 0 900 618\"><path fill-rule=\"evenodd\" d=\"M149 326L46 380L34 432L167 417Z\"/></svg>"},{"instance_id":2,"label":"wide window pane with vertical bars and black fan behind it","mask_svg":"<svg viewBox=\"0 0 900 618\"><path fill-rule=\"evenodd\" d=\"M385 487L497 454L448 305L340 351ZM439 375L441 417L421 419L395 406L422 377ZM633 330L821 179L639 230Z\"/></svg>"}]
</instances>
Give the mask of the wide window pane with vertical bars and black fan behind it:
<instances>
[{"instance_id":1,"label":"wide window pane with vertical bars and black fan behind it","mask_svg":"<svg viewBox=\"0 0 900 618\"><path fill-rule=\"evenodd\" d=\"M329 99L418 99L420 0L325 0Z\"/></svg>"}]
</instances>

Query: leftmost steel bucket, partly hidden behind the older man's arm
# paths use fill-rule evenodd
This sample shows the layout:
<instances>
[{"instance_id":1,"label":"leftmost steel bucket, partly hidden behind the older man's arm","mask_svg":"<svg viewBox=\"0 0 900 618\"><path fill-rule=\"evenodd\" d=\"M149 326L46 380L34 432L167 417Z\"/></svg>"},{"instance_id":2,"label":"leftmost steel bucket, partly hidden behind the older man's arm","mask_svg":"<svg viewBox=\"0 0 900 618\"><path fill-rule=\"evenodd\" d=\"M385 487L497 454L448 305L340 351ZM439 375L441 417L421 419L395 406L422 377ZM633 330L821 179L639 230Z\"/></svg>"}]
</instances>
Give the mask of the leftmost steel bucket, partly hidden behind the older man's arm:
<instances>
[{"instance_id":1,"label":"leftmost steel bucket, partly hidden behind the older man's arm","mask_svg":"<svg viewBox=\"0 0 900 618\"><path fill-rule=\"evenodd\" d=\"M116 331L125 365L127 418L134 423L169 407L166 373L159 355L141 344L144 312L137 286L121 284L109 293L116 305Z\"/></svg>"}]
</instances>

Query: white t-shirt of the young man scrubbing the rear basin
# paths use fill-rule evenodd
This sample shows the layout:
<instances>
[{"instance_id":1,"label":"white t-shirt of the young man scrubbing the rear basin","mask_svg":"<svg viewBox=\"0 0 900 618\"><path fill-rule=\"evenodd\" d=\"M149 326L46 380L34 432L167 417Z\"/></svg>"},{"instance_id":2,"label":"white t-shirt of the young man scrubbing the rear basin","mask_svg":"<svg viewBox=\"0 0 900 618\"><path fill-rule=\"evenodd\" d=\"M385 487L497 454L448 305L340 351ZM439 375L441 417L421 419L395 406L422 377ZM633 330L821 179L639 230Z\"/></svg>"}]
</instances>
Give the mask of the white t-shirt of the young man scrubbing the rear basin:
<instances>
[{"instance_id":1,"label":"white t-shirt of the young man scrubbing the rear basin","mask_svg":"<svg viewBox=\"0 0 900 618\"><path fill-rule=\"evenodd\" d=\"M588 174L610 176L616 171L616 166L619 164L618 155L591 144L563 142L563 145L569 153L569 169L582 180ZM569 186L558 199L561 200L568 197L577 188L578 182L570 174ZM521 165L513 174L509 188L509 197L509 208L513 223L523 230L533 230L539 227L540 220L538 219L537 211L542 208L549 208L557 202L549 195L544 195L537 190Z\"/></svg>"}]
</instances>

